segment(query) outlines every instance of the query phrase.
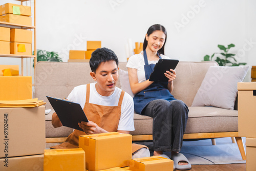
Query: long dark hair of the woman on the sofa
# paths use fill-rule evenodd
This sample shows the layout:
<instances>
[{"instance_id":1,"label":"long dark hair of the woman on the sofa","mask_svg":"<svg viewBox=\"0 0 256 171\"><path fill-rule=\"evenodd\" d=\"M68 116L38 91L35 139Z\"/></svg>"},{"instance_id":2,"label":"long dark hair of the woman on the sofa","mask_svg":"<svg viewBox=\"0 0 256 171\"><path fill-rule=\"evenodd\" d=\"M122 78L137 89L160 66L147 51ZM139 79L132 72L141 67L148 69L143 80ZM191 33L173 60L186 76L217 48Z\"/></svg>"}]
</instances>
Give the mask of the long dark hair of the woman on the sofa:
<instances>
[{"instance_id":1,"label":"long dark hair of the woman on the sofa","mask_svg":"<svg viewBox=\"0 0 256 171\"><path fill-rule=\"evenodd\" d=\"M165 41L164 41L163 47L158 50L159 55L160 54L164 55L164 46L165 46L165 42L166 42L166 39L167 39L167 32L166 32L165 28L162 25L156 24L156 25L153 25L150 28L148 28L146 34L147 34L147 36L150 36L154 31L157 31L157 30L162 31L165 34ZM146 49L146 47L147 47L147 40L146 40L146 37L145 37L144 42L143 42L143 51Z\"/></svg>"}]
</instances>

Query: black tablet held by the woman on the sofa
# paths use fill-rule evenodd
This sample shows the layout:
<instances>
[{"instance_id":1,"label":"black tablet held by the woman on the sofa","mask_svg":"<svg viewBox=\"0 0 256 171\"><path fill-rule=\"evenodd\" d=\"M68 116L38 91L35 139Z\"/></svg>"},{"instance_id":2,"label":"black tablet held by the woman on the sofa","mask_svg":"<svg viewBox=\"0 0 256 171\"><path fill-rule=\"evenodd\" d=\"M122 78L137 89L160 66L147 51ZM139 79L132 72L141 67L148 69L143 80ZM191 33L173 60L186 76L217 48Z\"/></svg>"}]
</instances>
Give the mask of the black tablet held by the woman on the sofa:
<instances>
[{"instance_id":1,"label":"black tablet held by the woman on the sofa","mask_svg":"<svg viewBox=\"0 0 256 171\"><path fill-rule=\"evenodd\" d=\"M177 59L159 59L150 75L150 81L168 81L164 73L170 69L174 70L178 63Z\"/></svg>"}]
</instances>

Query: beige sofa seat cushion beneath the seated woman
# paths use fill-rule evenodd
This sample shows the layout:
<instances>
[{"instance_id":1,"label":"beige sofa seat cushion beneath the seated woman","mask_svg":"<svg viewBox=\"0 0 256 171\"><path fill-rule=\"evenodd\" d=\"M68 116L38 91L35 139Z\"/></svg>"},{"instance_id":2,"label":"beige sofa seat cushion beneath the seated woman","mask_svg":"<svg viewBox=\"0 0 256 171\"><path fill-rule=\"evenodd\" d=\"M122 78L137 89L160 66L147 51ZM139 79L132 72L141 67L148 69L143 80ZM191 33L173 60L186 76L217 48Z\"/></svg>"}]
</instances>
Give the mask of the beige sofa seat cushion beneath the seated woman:
<instances>
[{"instance_id":1,"label":"beige sofa seat cushion beneath the seated woman","mask_svg":"<svg viewBox=\"0 0 256 171\"><path fill-rule=\"evenodd\" d=\"M211 106L188 107L188 121L185 133L237 132L238 111ZM135 131L132 135L151 135L153 119L134 114Z\"/></svg>"}]
</instances>

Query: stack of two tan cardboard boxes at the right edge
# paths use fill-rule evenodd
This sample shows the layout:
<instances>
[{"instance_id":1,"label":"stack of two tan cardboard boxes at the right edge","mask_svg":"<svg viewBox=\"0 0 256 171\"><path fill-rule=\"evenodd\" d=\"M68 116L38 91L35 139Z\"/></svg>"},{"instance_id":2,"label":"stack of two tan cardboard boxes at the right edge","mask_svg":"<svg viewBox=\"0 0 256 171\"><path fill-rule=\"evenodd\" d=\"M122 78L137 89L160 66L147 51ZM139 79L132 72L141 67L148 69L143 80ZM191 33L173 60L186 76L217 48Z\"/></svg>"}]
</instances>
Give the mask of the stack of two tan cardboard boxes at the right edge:
<instances>
[{"instance_id":1,"label":"stack of two tan cardboard boxes at the right edge","mask_svg":"<svg viewBox=\"0 0 256 171\"><path fill-rule=\"evenodd\" d=\"M246 137L246 170L256 168L256 82L238 82L239 136Z\"/></svg>"}]
</instances>

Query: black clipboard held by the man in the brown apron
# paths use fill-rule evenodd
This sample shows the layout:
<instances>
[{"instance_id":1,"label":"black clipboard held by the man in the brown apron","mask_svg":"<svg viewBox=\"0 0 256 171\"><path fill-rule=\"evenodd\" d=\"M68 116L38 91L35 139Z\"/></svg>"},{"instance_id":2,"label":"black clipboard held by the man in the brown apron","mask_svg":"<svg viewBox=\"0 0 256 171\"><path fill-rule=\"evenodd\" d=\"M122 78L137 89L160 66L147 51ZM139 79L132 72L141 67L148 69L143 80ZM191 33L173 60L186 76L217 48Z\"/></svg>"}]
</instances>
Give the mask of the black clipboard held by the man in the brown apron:
<instances>
[{"instance_id":1,"label":"black clipboard held by the man in the brown apron","mask_svg":"<svg viewBox=\"0 0 256 171\"><path fill-rule=\"evenodd\" d=\"M89 122L79 103L46 96L63 126L83 131L78 122Z\"/></svg>"}]
</instances>

